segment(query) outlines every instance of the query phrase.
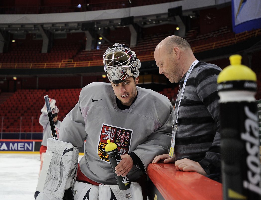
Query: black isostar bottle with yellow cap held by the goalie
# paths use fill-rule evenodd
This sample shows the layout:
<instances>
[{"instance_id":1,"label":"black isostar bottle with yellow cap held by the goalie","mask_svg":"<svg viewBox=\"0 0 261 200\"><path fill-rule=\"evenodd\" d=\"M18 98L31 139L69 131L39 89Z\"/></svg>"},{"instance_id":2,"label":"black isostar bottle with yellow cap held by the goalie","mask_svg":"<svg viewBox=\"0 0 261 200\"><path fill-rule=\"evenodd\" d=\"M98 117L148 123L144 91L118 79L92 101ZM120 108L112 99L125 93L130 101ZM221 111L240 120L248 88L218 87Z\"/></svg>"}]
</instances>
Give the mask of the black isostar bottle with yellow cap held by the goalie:
<instances>
[{"instance_id":1,"label":"black isostar bottle with yellow cap held by the goalie","mask_svg":"<svg viewBox=\"0 0 261 200\"><path fill-rule=\"evenodd\" d=\"M114 172L119 189L127 190L131 186L131 182L129 181L128 175L123 177L123 176L117 176L117 174L115 173L115 167L121 161L121 155L118 153L117 145L111 142L110 140L107 140L105 151L108 155L108 159L110 161L112 171Z\"/></svg>"}]
</instances>

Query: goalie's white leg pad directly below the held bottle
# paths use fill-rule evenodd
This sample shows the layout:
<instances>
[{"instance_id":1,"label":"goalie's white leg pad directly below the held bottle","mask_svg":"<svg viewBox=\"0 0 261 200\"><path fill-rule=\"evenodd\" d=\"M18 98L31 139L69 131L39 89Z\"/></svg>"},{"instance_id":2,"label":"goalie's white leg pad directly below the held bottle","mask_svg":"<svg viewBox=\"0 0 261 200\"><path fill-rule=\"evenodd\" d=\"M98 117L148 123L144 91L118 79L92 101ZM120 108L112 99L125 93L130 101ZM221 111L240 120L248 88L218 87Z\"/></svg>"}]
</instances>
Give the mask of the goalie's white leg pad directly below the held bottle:
<instances>
[{"instance_id":1,"label":"goalie's white leg pad directly below the held bottle","mask_svg":"<svg viewBox=\"0 0 261 200\"><path fill-rule=\"evenodd\" d=\"M141 186L137 182L131 182L127 190L120 190L118 185L100 185L99 200L140 200L143 199Z\"/></svg>"}]
</instances>

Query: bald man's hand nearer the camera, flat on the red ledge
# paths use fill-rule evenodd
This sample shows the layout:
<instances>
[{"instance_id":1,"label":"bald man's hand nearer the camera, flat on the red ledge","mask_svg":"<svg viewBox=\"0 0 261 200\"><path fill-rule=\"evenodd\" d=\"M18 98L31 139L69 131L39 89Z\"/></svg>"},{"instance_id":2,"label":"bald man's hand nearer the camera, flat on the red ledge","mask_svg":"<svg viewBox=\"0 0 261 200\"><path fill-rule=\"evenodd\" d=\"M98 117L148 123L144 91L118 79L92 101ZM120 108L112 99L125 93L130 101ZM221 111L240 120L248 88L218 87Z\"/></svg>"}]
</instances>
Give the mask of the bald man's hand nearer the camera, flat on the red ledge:
<instances>
[{"instance_id":1,"label":"bald man's hand nearer the camera, flat on the red ledge","mask_svg":"<svg viewBox=\"0 0 261 200\"><path fill-rule=\"evenodd\" d=\"M199 165L198 162L195 162L193 160L183 158L181 160L177 160L175 162L175 166L178 171L183 171L183 172L198 172L199 174L202 174L206 176L206 172L204 169Z\"/></svg>"}]
</instances>

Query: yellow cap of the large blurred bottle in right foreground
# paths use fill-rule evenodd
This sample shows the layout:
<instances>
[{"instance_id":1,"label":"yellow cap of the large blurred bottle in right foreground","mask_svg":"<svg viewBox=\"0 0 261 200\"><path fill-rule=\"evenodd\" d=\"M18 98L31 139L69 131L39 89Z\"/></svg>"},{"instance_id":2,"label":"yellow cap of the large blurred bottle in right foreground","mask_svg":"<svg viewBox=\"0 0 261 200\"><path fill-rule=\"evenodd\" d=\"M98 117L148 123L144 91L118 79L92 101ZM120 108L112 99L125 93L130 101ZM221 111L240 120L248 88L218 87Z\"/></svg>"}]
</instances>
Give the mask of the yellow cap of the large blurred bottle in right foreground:
<instances>
[{"instance_id":1,"label":"yellow cap of the large blurred bottle in right foreground","mask_svg":"<svg viewBox=\"0 0 261 200\"><path fill-rule=\"evenodd\" d=\"M229 57L230 65L223 69L217 77L217 83L226 81L257 81L253 70L241 65L242 56L236 54Z\"/></svg>"}]
</instances>

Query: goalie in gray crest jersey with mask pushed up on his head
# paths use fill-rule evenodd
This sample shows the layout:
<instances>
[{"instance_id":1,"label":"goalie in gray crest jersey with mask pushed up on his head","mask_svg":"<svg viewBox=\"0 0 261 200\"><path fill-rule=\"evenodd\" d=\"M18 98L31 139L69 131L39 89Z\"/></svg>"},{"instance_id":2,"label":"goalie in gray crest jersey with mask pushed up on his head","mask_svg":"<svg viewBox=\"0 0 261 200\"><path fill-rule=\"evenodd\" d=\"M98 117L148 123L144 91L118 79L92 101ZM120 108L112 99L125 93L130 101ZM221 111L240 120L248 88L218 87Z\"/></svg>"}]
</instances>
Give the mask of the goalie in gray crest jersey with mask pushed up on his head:
<instances>
[{"instance_id":1,"label":"goalie in gray crest jersey with mask pushed up on his head","mask_svg":"<svg viewBox=\"0 0 261 200\"><path fill-rule=\"evenodd\" d=\"M137 86L140 60L126 45L116 43L109 47L103 62L110 83L96 82L82 88L78 103L61 124L59 141L80 147L86 139L77 185L84 182L91 188L99 186L99 199L112 199L111 195L123 199L117 196L124 191L117 191L104 150L110 139L122 159L115 168L116 174L128 175L133 199L147 199L145 170L156 155L169 151L174 110L166 96ZM135 190L137 183L143 189L143 197ZM96 193L93 196L88 199L95 199Z\"/></svg>"}]
</instances>

